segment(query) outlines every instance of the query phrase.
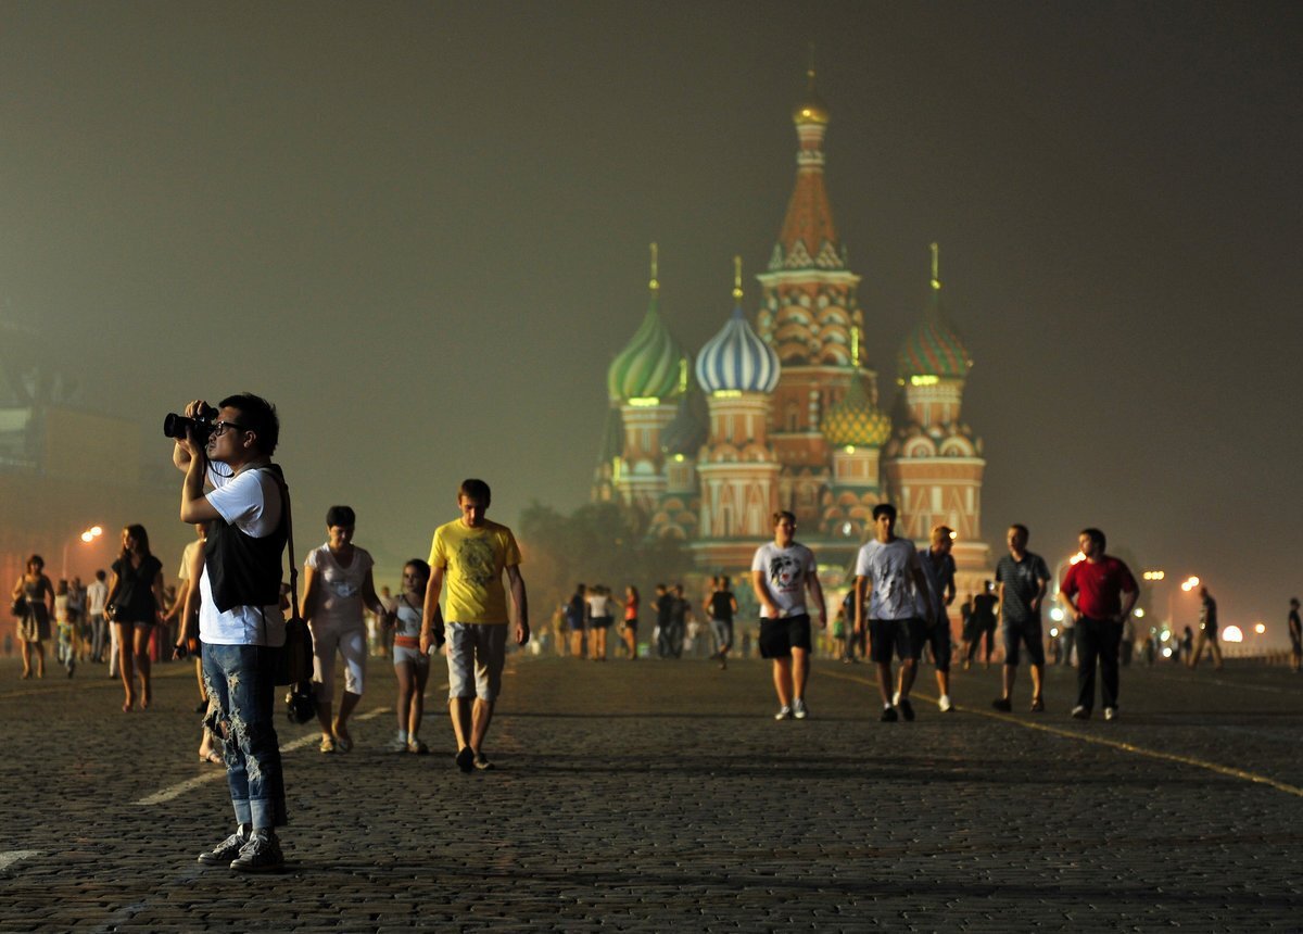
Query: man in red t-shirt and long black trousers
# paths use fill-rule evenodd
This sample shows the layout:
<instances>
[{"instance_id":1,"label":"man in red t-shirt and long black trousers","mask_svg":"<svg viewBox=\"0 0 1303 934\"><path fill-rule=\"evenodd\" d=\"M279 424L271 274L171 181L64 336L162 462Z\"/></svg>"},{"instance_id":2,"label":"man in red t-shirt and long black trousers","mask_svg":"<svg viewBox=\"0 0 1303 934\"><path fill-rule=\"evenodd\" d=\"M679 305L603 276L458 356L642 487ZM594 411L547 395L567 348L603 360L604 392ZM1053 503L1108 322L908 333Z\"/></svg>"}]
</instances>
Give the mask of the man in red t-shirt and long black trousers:
<instances>
[{"instance_id":1,"label":"man in red t-shirt and long black trousers","mask_svg":"<svg viewBox=\"0 0 1303 934\"><path fill-rule=\"evenodd\" d=\"M1076 706L1072 716L1091 718L1095 706L1095 663L1100 663L1100 700L1104 719L1118 716L1118 651L1122 624L1140 598L1140 589L1123 561L1104 554L1105 538L1098 529L1078 535L1084 561L1067 569L1059 586L1059 599L1076 620Z\"/></svg>"}]
</instances>

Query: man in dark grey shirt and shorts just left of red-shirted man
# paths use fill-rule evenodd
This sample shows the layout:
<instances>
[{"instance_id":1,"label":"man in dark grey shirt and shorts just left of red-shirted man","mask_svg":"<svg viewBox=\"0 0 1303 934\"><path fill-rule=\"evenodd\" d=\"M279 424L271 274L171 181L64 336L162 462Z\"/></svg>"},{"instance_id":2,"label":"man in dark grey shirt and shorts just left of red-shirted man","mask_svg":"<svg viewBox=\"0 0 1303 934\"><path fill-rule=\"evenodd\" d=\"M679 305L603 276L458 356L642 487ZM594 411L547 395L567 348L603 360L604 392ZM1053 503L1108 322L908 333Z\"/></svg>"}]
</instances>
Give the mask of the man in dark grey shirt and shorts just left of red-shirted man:
<instances>
[{"instance_id":1,"label":"man in dark grey shirt and shorts just left of red-shirted man","mask_svg":"<svg viewBox=\"0 0 1303 934\"><path fill-rule=\"evenodd\" d=\"M999 598L1001 636L1005 642L1003 692L994 702L995 710L1014 709L1014 680L1018 677L1020 650L1027 646L1032 672L1032 713L1045 710L1045 641L1041 637L1041 606L1050 585L1045 559L1027 550L1031 533L1025 525L1009 526L1005 541L1009 554L995 565L995 587Z\"/></svg>"}]
</instances>

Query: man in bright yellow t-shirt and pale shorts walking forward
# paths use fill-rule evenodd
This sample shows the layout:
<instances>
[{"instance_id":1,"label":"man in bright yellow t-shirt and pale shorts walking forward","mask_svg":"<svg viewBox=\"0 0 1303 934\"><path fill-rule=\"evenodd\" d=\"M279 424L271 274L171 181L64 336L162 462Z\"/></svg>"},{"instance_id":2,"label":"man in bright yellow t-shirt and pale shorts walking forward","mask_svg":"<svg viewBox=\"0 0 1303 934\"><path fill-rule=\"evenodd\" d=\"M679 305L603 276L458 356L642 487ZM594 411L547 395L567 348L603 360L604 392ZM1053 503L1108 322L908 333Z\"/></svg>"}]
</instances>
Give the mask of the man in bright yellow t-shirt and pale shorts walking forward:
<instances>
[{"instance_id":1,"label":"man in bright yellow t-shirt and pale shorts walking forward","mask_svg":"<svg viewBox=\"0 0 1303 934\"><path fill-rule=\"evenodd\" d=\"M466 479L457 491L461 518L434 530L430 546L430 586L421 614L421 651L434 644L433 625L439 594L448 586L448 714L457 739L457 769L493 769L483 754L494 703L502 692L507 658L507 572L516 604L516 645L529 641L529 606L520 576L520 547L506 525L485 518L490 490L482 479Z\"/></svg>"}]
</instances>

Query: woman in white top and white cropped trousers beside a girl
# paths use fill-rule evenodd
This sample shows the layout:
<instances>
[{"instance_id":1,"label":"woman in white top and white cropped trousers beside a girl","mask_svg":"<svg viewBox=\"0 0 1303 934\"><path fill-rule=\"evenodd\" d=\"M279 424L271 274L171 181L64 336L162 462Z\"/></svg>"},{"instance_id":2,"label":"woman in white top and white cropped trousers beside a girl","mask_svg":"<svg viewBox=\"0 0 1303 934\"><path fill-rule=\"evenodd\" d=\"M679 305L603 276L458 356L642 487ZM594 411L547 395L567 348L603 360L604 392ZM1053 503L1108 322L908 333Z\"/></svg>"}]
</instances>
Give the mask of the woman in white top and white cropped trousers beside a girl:
<instances>
[{"instance_id":1,"label":"woman in white top and white cropped trousers beside a girl","mask_svg":"<svg viewBox=\"0 0 1303 934\"><path fill-rule=\"evenodd\" d=\"M313 680L317 683L317 719L322 727L318 748L323 753L347 753L353 748L348 718L362 700L366 676L362 610L377 615L384 612L371 578L375 561L353 545L356 525L357 515L351 507L332 505L326 512L326 545L313 548L304 561L304 617L313 633ZM344 694L339 714L331 719L336 650L344 658Z\"/></svg>"}]
</instances>

